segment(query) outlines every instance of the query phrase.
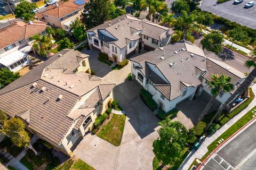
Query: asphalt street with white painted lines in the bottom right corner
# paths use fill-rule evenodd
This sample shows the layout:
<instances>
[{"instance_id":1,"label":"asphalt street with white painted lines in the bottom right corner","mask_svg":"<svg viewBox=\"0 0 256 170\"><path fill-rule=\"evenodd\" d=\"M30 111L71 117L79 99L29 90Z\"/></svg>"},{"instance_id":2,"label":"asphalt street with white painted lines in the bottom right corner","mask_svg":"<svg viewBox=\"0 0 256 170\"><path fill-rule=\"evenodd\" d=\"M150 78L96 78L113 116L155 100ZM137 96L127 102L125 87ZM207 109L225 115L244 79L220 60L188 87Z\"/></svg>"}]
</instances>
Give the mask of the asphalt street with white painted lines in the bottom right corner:
<instances>
[{"instance_id":1,"label":"asphalt street with white painted lines in the bottom right corner","mask_svg":"<svg viewBox=\"0 0 256 170\"><path fill-rule=\"evenodd\" d=\"M214 153L203 170L256 169L256 122Z\"/></svg>"}]
</instances>

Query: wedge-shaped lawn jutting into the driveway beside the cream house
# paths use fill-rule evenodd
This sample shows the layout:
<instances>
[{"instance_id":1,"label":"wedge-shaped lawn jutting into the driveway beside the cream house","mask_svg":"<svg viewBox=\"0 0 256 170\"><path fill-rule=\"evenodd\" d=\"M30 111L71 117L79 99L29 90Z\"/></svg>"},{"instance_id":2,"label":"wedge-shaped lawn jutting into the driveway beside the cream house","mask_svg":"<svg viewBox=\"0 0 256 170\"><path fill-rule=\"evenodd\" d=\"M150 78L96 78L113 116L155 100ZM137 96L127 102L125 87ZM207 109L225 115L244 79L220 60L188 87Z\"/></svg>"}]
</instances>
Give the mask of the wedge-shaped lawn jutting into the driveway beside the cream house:
<instances>
[{"instance_id":1,"label":"wedge-shaped lawn jutting into the driveway beside the cream house","mask_svg":"<svg viewBox=\"0 0 256 170\"><path fill-rule=\"evenodd\" d=\"M98 133L98 137L114 146L120 146L124 132L125 115L114 114L111 120Z\"/></svg>"}]
</instances>

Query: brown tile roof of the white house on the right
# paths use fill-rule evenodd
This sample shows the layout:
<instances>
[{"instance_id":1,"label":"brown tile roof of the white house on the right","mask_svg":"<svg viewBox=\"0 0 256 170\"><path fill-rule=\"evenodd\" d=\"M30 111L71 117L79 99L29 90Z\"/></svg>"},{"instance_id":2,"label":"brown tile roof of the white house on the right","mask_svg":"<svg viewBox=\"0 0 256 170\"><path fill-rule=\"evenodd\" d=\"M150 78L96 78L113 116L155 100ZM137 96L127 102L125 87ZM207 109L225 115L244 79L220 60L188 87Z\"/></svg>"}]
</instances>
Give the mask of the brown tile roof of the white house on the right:
<instances>
[{"instance_id":1,"label":"brown tile roof of the white house on the right","mask_svg":"<svg viewBox=\"0 0 256 170\"><path fill-rule=\"evenodd\" d=\"M142 54L131 60L140 64L138 69L145 77L152 80L156 89L169 100L181 95L181 91L186 87L196 87L201 81L196 77L203 73L206 80L210 80L212 74L226 74L231 77L231 82L236 83L245 78L242 72L233 67L213 59L214 53L206 53L201 48L179 41L175 44L167 45L163 49ZM210 56L210 57L208 57ZM153 64L161 73L165 80L157 74L152 74L149 65Z\"/></svg>"}]
</instances>

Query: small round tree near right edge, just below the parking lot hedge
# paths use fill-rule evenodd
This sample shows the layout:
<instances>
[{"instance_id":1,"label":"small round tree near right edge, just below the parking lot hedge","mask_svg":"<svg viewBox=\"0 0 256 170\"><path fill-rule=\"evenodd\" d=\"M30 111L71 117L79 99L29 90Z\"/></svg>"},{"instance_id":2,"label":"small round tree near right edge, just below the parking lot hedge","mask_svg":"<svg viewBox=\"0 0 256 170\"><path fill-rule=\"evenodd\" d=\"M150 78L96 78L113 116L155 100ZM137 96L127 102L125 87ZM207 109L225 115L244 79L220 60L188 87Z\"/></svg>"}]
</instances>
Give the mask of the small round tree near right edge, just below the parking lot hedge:
<instances>
[{"instance_id":1,"label":"small round tree near right edge, just below the parking lot hedge","mask_svg":"<svg viewBox=\"0 0 256 170\"><path fill-rule=\"evenodd\" d=\"M231 38L232 44L230 48L233 46L235 40L246 42L250 38L248 37L247 31L243 30L241 27L236 27L230 31L228 31L228 36Z\"/></svg>"}]
</instances>

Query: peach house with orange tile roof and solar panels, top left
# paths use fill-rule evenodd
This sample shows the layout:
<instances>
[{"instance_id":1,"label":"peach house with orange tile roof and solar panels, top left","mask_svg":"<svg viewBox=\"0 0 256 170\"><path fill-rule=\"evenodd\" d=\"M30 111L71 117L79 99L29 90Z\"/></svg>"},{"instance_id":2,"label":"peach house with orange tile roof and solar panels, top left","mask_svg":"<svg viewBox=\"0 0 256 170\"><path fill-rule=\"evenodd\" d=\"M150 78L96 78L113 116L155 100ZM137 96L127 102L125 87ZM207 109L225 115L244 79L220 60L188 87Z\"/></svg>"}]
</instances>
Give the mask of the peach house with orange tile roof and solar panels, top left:
<instances>
[{"instance_id":1,"label":"peach house with orange tile roof and solar panels, top left","mask_svg":"<svg viewBox=\"0 0 256 170\"><path fill-rule=\"evenodd\" d=\"M57 4L49 5L45 11L37 12L35 16L37 19L47 22L52 27L69 31L70 23L76 18L80 19L82 17L84 4L77 5L75 2L58 2Z\"/></svg>"}]
</instances>

